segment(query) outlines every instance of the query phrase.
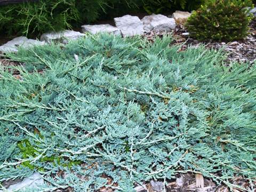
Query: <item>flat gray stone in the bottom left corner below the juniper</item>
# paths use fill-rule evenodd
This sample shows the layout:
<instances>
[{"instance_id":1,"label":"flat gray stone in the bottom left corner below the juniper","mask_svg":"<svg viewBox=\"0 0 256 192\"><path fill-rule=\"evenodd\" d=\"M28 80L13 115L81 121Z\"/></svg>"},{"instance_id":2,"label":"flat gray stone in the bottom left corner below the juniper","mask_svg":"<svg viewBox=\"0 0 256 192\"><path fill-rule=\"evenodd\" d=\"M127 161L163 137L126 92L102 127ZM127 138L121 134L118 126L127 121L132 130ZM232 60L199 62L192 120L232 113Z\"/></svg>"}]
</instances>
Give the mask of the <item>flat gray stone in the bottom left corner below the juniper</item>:
<instances>
[{"instance_id":1,"label":"flat gray stone in the bottom left corner below the juniper","mask_svg":"<svg viewBox=\"0 0 256 192\"><path fill-rule=\"evenodd\" d=\"M44 185L44 179L41 177L41 174L34 173L28 178L23 179L21 182L11 185L7 191L18 191L22 189L37 189L38 186Z\"/></svg>"}]
</instances>

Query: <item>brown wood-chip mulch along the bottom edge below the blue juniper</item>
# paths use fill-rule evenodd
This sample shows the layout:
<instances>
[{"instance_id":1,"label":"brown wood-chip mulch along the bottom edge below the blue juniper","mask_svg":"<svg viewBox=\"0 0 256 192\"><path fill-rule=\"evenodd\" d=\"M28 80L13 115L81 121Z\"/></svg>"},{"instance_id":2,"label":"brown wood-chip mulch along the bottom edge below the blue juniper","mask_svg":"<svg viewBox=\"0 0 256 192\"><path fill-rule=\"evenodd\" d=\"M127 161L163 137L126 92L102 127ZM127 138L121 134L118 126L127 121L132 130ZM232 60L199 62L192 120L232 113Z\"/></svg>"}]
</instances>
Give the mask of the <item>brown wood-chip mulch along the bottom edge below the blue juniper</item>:
<instances>
[{"instance_id":1,"label":"brown wood-chip mulch along the bottom edge below the blue juniper","mask_svg":"<svg viewBox=\"0 0 256 192\"><path fill-rule=\"evenodd\" d=\"M117 183L113 182L113 179L102 175L102 178L106 178L108 187L101 187L97 192L114 192L116 189L120 189ZM154 181L151 180L147 183L138 184L134 187L136 192L245 192L256 191L256 181L249 181L242 176L235 177L230 182L228 187L224 183L215 183L212 179L204 178L200 173L180 173L176 175L176 178L170 181ZM154 184L155 183L155 184ZM165 183L165 185L164 185ZM162 187L157 187L162 186ZM74 189L68 187L66 189L57 189L56 192L73 192Z\"/></svg>"}]
</instances>

